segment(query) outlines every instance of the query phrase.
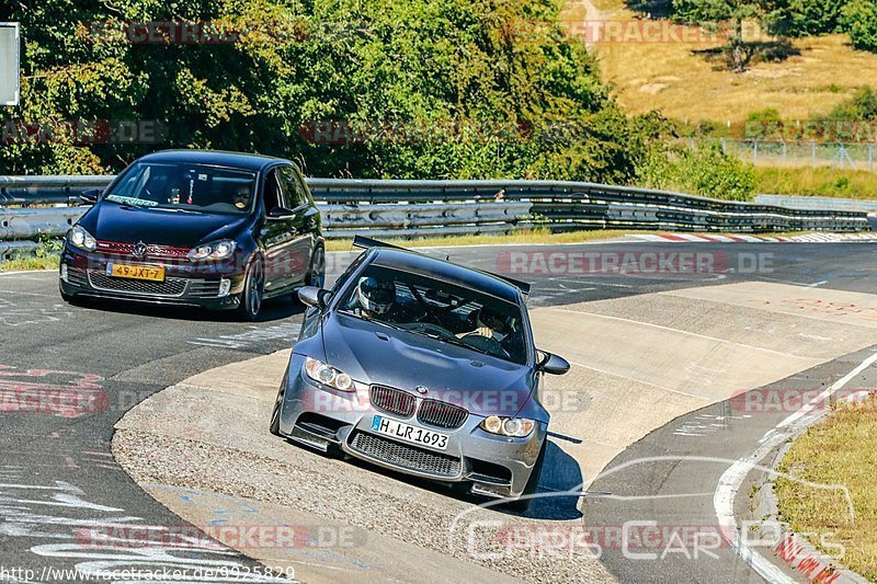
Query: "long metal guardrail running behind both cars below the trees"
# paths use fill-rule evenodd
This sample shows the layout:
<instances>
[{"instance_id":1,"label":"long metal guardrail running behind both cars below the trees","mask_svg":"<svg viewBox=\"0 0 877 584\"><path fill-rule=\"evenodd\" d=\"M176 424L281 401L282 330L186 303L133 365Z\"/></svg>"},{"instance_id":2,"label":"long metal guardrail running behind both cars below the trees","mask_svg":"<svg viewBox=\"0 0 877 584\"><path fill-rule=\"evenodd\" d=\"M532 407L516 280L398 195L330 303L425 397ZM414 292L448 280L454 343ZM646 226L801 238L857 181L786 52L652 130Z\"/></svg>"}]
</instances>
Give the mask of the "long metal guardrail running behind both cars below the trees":
<instances>
[{"instance_id":1,"label":"long metal guardrail running behind both cars below the trees","mask_svg":"<svg viewBox=\"0 0 877 584\"><path fill-rule=\"evenodd\" d=\"M0 176L0 241L62 236L79 193L113 176ZM478 234L534 226L672 231L867 231L865 213L738 203L569 181L308 179L330 238ZM44 207L35 207L35 206ZM56 205L45 207L45 205Z\"/></svg>"}]
</instances>

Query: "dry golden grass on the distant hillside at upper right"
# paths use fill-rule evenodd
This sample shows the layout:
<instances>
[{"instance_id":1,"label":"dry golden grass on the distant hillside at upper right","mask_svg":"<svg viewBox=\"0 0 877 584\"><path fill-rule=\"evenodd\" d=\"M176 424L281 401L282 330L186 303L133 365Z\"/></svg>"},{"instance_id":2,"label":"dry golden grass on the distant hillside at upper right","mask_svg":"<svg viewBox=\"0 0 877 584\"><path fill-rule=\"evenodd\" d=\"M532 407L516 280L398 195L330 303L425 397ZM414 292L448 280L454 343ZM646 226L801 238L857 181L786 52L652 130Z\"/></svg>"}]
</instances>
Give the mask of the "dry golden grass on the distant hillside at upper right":
<instances>
[{"instance_id":1,"label":"dry golden grass on the distant hillside at upper right","mask_svg":"<svg viewBox=\"0 0 877 584\"><path fill-rule=\"evenodd\" d=\"M628 21L639 14L623 0L596 0L600 20ZM568 0L563 19L581 16L581 1ZM695 27L691 32L696 33ZM631 113L660 110L681 121L740 123L751 112L776 107L789 121L828 113L856 88L877 87L877 55L854 50L845 35L795 41L800 55L761 62L734 73L693 50L720 43L597 43L603 78ZM833 87L832 87L833 85Z\"/></svg>"}]
</instances>

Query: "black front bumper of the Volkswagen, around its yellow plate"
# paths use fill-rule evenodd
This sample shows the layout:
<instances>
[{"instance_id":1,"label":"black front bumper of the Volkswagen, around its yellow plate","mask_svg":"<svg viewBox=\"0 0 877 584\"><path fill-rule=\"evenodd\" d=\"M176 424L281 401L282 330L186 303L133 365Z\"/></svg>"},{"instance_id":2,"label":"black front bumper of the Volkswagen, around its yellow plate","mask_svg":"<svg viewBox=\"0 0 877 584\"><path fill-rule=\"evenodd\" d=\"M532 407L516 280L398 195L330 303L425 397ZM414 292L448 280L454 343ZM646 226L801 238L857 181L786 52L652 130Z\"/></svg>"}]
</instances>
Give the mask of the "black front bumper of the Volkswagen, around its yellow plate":
<instances>
[{"instance_id":1,"label":"black front bumper of the Volkswagen, around its yellow plate","mask_svg":"<svg viewBox=\"0 0 877 584\"><path fill-rule=\"evenodd\" d=\"M166 277L163 282L112 277L106 273L110 263L163 267ZM88 296L221 310L240 306L243 291L243 274L219 273L209 267L189 266L180 261L137 260L88 253L65 245L60 264L60 290L70 297ZM228 291L225 293L223 287L228 287Z\"/></svg>"}]
</instances>

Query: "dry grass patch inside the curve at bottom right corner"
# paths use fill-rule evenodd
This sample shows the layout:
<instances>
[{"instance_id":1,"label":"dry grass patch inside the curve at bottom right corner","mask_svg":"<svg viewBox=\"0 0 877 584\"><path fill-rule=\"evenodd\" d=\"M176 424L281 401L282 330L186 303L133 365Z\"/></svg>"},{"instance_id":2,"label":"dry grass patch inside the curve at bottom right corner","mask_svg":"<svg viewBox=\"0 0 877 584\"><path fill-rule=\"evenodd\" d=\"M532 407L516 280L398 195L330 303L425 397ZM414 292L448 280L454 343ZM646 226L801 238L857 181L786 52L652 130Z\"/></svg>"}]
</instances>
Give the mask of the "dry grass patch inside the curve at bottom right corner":
<instances>
[{"instance_id":1,"label":"dry grass patch inside the curve at bottom right corner","mask_svg":"<svg viewBox=\"0 0 877 584\"><path fill-rule=\"evenodd\" d=\"M850 490L855 522L842 491L820 490L798 481L776 483L779 512L796 533L825 534L827 543L841 543L844 565L872 582L877 579L877 401L843 405L825 422L798 438L781 470L818 484L839 484ZM828 535L833 534L833 535ZM809 538L819 545L819 538ZM836 549L821 548L836 553Z\"/></svg>"}]
</instances>

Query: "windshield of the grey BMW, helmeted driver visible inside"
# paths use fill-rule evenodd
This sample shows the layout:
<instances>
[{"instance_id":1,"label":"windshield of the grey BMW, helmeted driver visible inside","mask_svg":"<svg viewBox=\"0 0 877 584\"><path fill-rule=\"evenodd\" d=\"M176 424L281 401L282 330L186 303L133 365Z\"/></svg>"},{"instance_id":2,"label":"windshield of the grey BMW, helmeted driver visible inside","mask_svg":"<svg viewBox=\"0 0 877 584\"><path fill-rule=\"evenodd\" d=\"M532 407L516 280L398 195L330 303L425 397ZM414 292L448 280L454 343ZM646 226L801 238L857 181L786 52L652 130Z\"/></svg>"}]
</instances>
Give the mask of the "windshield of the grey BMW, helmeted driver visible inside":
<instances>
[{"instance_id":1,"label":"windshield of the grey BMW, helmeted driver visible inside","mask_svg":"<svg viewBox=\"0 0 877 584\"><path fill-rule=\"evenodd\" d=\"M469 288L369 265L338 307L345 314L520 365L527 363L521 309Z\"/></svg>"}]
</instances>

